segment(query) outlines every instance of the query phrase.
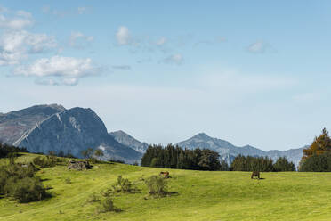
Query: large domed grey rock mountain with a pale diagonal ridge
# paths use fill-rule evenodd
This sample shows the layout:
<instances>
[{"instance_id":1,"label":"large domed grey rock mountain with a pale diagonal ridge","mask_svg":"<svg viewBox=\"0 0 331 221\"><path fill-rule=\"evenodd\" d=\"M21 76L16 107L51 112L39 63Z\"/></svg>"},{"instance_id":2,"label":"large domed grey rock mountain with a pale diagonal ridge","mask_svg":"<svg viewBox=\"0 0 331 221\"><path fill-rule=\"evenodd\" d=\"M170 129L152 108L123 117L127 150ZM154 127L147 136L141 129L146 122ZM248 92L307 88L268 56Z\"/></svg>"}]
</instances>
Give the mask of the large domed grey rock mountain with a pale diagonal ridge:
<instances>
[{"instance_id":1,"label":"large domed grey rock mountain with a pale diagonal ridge","mask_svg":"<svg viewBox=\"0 0 331 221\"><path fill-rule=\"evenodd\" d=\"M81 151L91 147L104 151L105 160L125 160L133 163L141 158L141 153L118 143L108 134L102 120L91 109L73 108L55 113L36 124L14 145L26 147L28 151L71 152L82 157Z\"/></svg>"}]
</instances>

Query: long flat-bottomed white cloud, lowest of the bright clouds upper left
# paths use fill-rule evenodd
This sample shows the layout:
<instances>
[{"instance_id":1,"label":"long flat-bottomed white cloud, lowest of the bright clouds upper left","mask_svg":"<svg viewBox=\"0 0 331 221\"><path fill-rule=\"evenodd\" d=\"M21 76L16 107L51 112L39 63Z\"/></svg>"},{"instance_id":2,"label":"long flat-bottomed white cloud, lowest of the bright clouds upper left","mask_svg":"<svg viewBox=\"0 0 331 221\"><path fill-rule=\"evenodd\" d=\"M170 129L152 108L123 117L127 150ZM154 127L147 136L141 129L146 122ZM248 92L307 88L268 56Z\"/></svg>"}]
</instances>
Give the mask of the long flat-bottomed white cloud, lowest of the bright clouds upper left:
<instances>
[{"instance_id":1,"label":"long flat-bottomed white cloud, lowest of the bright clouds upper left","mask_svg":"<svg viewBox=\"0 0 331 221\"><path fill-rule=\"evenodd\" d=\"M90 58L77 59L72 57L53 56L36 60L28 66L20 66L14 70L15 75L35 77L58 77L67 79L65 83L74 84L77 80L68 78L84 78L98 74L98 68L93 66Z\"/></svg>"}]
</instances>

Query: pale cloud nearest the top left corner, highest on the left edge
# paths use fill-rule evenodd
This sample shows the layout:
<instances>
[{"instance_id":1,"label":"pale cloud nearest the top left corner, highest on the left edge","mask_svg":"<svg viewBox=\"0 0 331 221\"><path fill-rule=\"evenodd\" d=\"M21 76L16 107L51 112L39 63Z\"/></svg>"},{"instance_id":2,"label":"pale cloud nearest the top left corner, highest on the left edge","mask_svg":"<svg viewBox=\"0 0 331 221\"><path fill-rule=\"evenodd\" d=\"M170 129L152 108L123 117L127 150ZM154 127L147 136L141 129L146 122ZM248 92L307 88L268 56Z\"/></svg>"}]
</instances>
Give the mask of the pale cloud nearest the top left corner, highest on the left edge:
<instances>
[{"instance_id":1,"label":"pale cloud nearest the top left corner, highest on the left edge","mask_svg":"<svg viewBox=\"0 0 331 221\"><path fill-rule=\"evenodd\" d=\"M2 29L24 29L34 24L31 13L25 11L12 12L9 9L0 10L0 28Z\"/></svg>"}]
</instances>

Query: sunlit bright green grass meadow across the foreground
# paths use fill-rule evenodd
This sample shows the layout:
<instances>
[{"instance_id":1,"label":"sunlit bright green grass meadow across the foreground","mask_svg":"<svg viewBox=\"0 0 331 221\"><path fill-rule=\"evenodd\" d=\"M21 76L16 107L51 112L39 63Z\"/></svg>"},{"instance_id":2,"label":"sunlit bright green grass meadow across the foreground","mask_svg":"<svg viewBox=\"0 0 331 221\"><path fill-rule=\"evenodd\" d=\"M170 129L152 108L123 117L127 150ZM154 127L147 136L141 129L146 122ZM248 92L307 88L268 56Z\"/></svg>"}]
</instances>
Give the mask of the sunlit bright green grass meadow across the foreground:
<instances>
[{"instance_id":1,"label":"sunlit bright green grass meadow across the foreground","mask_svg":"<svg viewBox=\"0 0 331 221\"><path fill-rule=\"evenodd\" d=\"M19 161L28 161L25 154ZM0 160L4 164L4 160ZM0 221L10 220L331 220L331 174L262 173L251 180L246 172L205 172L166 169L169 191L164 198L149 198L141 176L157 175L160 168L123 164L94 164L86 171L65 166L44 168L37 176L51 185L52 198L20 204L0 199ZM86 203L100 194L117 176L137 184L140 193L121 194L114 199L122 212L97 214L98 202ZM70 178L71 184L65 179Z\"/></svg>"}]
</instances>

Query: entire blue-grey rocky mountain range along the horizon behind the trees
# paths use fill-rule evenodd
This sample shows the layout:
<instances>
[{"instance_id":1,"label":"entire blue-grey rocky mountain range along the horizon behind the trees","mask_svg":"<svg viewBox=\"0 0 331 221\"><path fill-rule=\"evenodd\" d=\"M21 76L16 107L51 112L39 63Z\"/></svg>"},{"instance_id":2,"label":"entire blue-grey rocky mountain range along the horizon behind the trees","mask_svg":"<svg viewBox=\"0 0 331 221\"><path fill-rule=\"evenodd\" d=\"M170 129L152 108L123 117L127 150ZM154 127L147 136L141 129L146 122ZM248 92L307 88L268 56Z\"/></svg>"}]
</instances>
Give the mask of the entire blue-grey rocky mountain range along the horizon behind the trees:
<instances>
[{"instance_id":1,"label":"entire blue-grey rocky mountain range along the horizon behind the trees","mask_svg":"<svg viewBox=\"0 0 331 221\"><path fill-rule=\"evenodd\" d=\"M81 151L88 147L104 151L103 160L138 162L149 144L118 130L108 132L102 120L91 109L65 109L58 104L36 105L20 111L0 114L0 141L32 152L70 152L82 157ZM204 133L194 135L177 143L187 149L211 149L223 160L230 162L239 154L245 156L267 156L272 160L287 157L298 166L303 148L288 151L262 151L250 145L238 147L225 140Z\"/></svg>"}]
</instances>

